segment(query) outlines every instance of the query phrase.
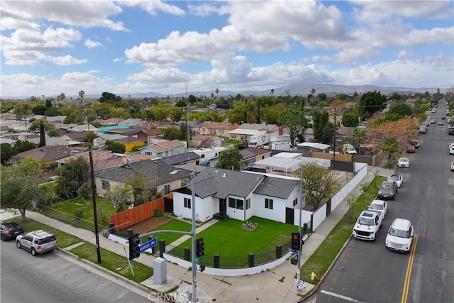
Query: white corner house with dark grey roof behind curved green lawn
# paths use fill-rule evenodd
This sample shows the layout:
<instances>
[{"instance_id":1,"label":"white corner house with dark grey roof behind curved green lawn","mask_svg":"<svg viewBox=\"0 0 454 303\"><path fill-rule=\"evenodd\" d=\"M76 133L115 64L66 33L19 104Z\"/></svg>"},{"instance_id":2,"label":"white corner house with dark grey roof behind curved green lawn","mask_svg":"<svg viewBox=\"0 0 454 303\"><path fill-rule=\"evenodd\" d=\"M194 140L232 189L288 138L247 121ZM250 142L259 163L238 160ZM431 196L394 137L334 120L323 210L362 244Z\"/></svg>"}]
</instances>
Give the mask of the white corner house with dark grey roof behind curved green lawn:
<instances>
[{"instance_id":1,"label":"white corner house with dark grey roof behind curved green lawn","mask_svg":"<svg viewBox=\"0 0 454 303\"><path fill-rule=\"evenodd\" d=\"M191 190L188 185L173 191L175 215L192 218ZM287 209L297 205L298 193L295 180L206 167L195 177L196 219L228 216L247 221L259 216L286 222Z\"/></svg>"}]
</instances>

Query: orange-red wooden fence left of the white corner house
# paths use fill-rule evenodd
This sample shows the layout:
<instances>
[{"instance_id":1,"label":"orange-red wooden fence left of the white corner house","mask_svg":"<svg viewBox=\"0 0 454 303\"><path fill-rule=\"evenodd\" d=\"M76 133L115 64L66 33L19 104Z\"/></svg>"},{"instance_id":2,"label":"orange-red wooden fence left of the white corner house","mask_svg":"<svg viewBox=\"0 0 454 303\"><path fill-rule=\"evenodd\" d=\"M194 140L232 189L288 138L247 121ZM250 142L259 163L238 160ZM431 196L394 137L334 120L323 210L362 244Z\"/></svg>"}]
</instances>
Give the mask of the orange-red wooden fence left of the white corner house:
<instances>
[{"instance_id":1,"label":"orange-red wooden fence left of the white corner house","mask_svg":"<svg viewBox=\"0 0 454 303\"><path fill-rule=\"evenodd\" d=\"M109 216L109 223L114 224L114 227L118 227L119 229L125 229L153 218L153 216L155 216L155 209L164 211L165 198L173 199L173 194L167 194L164 197L160 197L151 202L140 204L132 209L126 209L118 214Z\"/></svg>"}]
</instances>

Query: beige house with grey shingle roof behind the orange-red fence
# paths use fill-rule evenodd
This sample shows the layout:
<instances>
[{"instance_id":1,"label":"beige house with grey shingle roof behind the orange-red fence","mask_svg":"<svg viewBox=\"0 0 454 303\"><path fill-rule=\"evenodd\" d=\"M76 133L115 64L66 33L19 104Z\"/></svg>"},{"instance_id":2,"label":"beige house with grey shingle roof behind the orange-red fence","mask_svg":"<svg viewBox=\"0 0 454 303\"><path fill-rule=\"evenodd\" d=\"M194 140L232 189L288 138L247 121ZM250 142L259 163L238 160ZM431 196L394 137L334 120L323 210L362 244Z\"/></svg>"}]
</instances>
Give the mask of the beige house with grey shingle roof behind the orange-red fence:
<instances>
[{"instance_id":1,"label":"beige house with grey shingle roof behind the orange-red fence","mask_svg":"<svg viewBox=\"0 0 454 303\"><path fill-rule=\"evenodd\" d=\"M172 188L187 184L188 175L184 172L171 174L175 168L162 160L129 160L128 163L94 172L96 194L105 194L114 185L124 186L136 172L143 172L150 177L153 195L158 192L169 194ZM184 181L182 181L184 180Z\"/></svg>"}]
</instances>

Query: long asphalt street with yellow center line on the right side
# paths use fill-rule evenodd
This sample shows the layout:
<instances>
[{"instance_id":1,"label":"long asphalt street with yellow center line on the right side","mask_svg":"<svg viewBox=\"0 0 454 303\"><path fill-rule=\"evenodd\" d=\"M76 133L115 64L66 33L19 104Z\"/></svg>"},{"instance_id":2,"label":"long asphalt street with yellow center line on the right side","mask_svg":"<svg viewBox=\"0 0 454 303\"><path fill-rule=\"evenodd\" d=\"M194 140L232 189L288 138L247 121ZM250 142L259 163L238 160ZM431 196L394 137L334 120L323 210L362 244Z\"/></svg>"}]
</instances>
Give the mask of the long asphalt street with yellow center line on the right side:
<instances>
[{"instance_id":1,"label":"long asphalt street with yellow center line on the right side","mask_svg":"<svg viewBox=\"0 0 454 303\"><path fill-rule=\"evenodd\" d=\"M433 118L441 121L441 106ZM445 122L445 121L444 121ZM453 302L454 298L454 172L448 153L447 123L431 124L419 136L421 146L404 177L375 242L351 238L312 302ZM365 204L365 207L367 204ZM387 228L395 218L411 220L414 257L387 250Z\"/></svg>"}]
</instances>

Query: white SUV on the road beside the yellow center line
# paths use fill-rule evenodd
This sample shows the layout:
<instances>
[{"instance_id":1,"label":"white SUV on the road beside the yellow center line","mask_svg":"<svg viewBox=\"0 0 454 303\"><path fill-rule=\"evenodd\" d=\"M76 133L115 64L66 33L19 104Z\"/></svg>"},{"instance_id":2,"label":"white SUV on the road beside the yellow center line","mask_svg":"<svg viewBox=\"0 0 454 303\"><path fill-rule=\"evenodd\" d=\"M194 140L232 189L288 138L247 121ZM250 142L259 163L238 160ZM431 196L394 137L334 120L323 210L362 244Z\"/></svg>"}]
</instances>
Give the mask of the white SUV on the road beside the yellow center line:
<instances>
[{"instance_id":1,"label":"white SUV on the road beside the yellow center line","mask_svg":"<svg viewBox=\"0 0 454 303\"><path fill-rule=\"evenodd\" d=\"M395 219L386 236L386 247L390 250L408 253L413 243L414 231L411 222L406 219Z\"/></svg>"}]
</instances>

